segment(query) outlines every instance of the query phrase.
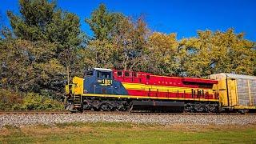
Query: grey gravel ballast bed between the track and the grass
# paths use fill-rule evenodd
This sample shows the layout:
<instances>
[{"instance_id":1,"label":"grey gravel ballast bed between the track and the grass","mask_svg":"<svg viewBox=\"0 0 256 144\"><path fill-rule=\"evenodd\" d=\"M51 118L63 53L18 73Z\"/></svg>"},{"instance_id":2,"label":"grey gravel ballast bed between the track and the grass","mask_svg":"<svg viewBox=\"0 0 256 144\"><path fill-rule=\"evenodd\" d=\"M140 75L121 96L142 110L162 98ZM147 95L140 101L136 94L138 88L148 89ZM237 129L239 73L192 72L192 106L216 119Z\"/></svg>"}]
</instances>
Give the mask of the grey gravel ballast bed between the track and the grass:
<instances>
[{"instance_id":1,"label":"grey gravel ballast bed between the track and the grass","mask_svg":"<svg viewBox=\"0 0 256 144\"><path fill-rule=\"evenodd\" d=\"M54 125L66 122L134 122L162 125L249 125L256 115L147 115L147 114L1 114L2 126Z\"/></svg>"}]
</instances>

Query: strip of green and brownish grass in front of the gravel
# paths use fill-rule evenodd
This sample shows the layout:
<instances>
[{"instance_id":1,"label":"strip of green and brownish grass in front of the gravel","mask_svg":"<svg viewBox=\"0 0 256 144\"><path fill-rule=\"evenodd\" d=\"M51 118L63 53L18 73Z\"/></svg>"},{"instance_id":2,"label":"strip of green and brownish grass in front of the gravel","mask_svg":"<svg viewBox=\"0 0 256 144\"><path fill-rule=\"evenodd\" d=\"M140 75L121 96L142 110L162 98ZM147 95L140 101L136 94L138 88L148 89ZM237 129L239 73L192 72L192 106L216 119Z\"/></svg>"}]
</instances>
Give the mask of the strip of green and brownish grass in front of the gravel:
<instances>
[{"instance_id":1,"label":"strip of green and brownish grass in front of the gravel","mask_svg":"<svg viewBox=\"0 0 256 144\"><path fill-rule=\"evenodd\" d=\"M126 122L5 126L0 143L255 143L256 126L188 126Z\"/></svg>"}]
</instances>

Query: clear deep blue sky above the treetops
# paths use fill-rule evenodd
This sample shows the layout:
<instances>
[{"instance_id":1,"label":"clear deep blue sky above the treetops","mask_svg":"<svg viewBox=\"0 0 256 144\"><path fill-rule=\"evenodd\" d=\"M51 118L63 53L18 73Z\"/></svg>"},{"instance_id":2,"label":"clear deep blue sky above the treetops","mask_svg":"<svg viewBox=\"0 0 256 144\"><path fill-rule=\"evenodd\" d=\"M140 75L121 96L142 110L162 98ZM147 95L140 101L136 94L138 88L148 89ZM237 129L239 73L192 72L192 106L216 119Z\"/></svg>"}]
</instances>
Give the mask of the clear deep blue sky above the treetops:
<instances>
[{"instance_id":1,"label":"clear deep blue sky above the treetops","mask_svg":"<svg viewBox=\"0 0 256 144\"><path fill-rule=\"evenodd\" d=\"M100 3L134 18L143 14L150 30L176 33L178 39L194 37L197 30L234 28L256 42L256 0L58 0L58 7L78 14L82 30L92 35L84 20ZM18 8L18 0L0 0L0 21L10 26L6 10L18 14Z\"/></svg>"}]
</instances>

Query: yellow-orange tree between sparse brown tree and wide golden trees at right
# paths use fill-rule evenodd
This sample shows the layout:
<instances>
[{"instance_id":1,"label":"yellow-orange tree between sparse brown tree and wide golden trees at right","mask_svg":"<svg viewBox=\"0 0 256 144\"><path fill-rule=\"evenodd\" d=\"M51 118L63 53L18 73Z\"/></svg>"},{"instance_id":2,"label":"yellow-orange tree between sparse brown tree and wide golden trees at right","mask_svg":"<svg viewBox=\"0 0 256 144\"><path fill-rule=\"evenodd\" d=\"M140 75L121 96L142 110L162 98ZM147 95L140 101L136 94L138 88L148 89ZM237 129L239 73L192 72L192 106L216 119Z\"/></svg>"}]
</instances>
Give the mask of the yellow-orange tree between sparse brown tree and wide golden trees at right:
<instances>
[{"instance_id":1,"label":"yellow-orange tree between sparse brown tree and wide golden trees at right","mask_svg":"<svg viewBox=\"0 0 256 144\"><path fill-rule=\"evenodd\" d=\"M150 72L163 75L178 75L178 41L176 34L155 32L150 35Z\"/></svg>"}]
</instances>

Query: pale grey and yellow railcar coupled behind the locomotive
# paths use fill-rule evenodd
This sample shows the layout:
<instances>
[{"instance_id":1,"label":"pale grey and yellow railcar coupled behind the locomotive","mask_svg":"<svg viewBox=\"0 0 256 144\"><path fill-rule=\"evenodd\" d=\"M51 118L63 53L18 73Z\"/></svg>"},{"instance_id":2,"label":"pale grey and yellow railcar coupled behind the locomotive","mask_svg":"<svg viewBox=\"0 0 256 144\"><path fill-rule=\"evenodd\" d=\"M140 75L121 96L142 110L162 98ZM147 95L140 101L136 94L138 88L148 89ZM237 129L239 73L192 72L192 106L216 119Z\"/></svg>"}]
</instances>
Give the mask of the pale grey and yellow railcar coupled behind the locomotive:
<instances>
[{"instance_id":1,"label":"pale grey and yellow railcar coupled behind the locomotive","mask_svg":"<svg viewBox=\"0 0 256 144\"><path fill-rule=\"evenodd\" d=\"M229 109L256 109L256 77L241 74L212 74L218 80L214 86L222 107Z\"/></svg>"}]
</instances>

